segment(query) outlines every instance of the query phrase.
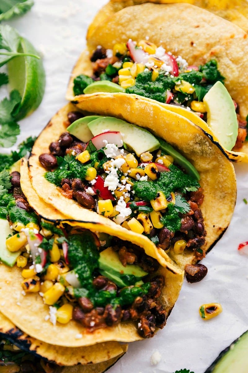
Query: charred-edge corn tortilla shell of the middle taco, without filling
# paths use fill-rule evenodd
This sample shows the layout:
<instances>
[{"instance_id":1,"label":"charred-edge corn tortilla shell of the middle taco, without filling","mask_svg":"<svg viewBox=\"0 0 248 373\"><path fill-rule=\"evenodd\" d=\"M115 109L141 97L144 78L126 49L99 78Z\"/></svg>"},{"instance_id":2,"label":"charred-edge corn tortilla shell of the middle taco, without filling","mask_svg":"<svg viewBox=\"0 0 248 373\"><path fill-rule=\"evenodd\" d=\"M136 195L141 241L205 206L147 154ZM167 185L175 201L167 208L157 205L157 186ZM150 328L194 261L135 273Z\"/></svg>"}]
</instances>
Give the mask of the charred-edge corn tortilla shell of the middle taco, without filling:
<instances>
[{"instance_id":1,"label":"charred-edge corn tortilla shell of the middle taco, without filling","mask_svg":"<svg viewBox=\"0 0 248 373\"><path fill-rule=\"evenodd\" d=\"M208 135L188 119L165 110L155 101L148 103L147 100L135 95L94 94L88 97L78 96L75 102L77 107L85 113L88 111L99 115L115 116L147 128L173 145L196 167L201 177L200 184L204 189L204 202L201 210L207 236L202 248L209 250L228 227L236 201L234 169L219 144L213 144ZM76 201L64 197L59 188L44 178L45 170L39 163L39 155L47 153L50 142L57 140L59 135L65 131L66 114L72 109L73 106L70 104L62 108L35 142L29 158L29 176L36 193L46 203L52 204L55 209L69 218L87 221L88 223L84 224L90 230L100 232L107 228L109 234L124 239L129 236L130 241L143 247L148 255L157 250L169 266L170 258L167 254L161 249L155 249L155 245L146 236L126 231L112 220L84 209ZM221 204L220 208L219 204ZM214 214L213 206L218 206L218 209L214 207L216 210ZM182 254L174 254L172 251L169 252L169 256L181 269L184 269L185 264L196 261L192 251L184 250ZM157 260L163 265L160 256Z\"/></svg>"}]
</instances>

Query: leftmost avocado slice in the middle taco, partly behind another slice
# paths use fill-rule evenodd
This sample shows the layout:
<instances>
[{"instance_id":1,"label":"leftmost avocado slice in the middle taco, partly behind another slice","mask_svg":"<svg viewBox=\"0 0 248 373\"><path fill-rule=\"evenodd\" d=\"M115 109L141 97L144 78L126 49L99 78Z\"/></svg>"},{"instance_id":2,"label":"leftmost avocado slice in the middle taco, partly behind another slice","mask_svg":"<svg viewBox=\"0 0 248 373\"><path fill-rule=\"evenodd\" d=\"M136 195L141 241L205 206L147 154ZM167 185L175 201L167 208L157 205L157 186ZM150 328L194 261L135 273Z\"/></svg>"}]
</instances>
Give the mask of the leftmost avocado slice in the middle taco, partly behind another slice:
<instances>
[{"instance_id":1,"label":"leftmost avocado slice in the middle taco, partly behind another slice","mask_svg":"<svg viewBox=\"0 0 248 373\"><path fill-rule=\"evenodd\" d=\"M87 115L86 117L79 118L71 123L69 127L67 127L67 131L71 135L77 137L79 140L88 142L93 137L90 129L88 128L88 123L99 117L99 115Z\"/></svg>"}]
</instances>

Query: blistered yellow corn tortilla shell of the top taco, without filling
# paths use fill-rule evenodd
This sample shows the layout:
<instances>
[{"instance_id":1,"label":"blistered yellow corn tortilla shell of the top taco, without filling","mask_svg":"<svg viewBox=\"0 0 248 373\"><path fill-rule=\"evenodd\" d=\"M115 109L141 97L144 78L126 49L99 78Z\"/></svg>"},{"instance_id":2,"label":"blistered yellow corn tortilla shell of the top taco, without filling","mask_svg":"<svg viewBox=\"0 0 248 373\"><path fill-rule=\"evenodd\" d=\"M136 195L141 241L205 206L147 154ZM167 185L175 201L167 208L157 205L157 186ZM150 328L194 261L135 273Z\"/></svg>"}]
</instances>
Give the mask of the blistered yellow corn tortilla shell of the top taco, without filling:
<instances>
[{"instance_id":1,"label":"blistered yellow corn tortilla shell of the top taco, without filling","mask_svg":"<svg viewBox=\"0 0 248 373\"><path fill-rule=\"evenodd\" d=\"M195 15L194 18L192 14ZM248 89L244 73L248 61L244 56L248 52L247 34L238 26L190 4L146 3L128 6L100 23L88 37L88 49L81 54L74 67L67 98L73 98L73 80L76 76L81 73L92 75L90 55L98 45L113 48L115 43L126 43L129 38L142 40L147 36L152 43L162 45L167 51L185 58L190 65L200 65L216 59L218 69L226 78L226 88L239 104L241 117L246 118ZM209 126L194 113L172 105L162 106L186 116L217 140ZM248 142L238 151L226 152L235 162L248 162Z\"/></svg>"}]
</instances>

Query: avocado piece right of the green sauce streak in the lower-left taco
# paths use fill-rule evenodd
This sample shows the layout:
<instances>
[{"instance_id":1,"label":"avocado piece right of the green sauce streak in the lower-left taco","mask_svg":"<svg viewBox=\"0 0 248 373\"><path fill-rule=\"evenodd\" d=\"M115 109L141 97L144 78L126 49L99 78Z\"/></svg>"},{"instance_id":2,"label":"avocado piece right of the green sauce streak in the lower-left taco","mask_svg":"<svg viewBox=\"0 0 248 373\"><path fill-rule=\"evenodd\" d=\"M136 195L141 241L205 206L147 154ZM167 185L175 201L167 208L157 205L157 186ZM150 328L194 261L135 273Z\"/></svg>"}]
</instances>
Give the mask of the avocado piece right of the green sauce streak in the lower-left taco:
<instances>
[{"instance_id":1,"label":"avocado piece right of the green sauce streak in the lower-left taco","mask_svg":"<svg viewBox=\"0 0 248 373\"><path fill-rule=\"evenodd\" d=\"M116 285L121 287L127 286L125 280L121 278L123 275L134 275L137 282L142 277L148 275L148 272L145 272L136 264L127 264L126 267L124 267L118 254L112 249L112 247L108 247L100 253L99 269L99 272L103 276L113 280Z\"/></svg>"}]
</instances>

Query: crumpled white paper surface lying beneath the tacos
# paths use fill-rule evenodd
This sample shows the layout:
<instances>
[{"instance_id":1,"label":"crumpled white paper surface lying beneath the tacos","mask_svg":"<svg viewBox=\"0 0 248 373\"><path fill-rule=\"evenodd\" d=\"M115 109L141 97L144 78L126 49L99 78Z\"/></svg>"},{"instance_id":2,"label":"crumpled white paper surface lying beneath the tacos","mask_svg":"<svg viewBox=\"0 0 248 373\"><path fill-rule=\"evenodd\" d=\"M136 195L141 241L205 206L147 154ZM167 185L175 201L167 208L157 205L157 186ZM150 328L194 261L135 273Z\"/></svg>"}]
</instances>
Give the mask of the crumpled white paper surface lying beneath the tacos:
<instances>
[{"instance_id":1,"label":"crumpled white paper surface lying beneath the tacos","mask_svg":"<svg viewBox=\"0 0 248 373\"><path fill-rule=\"evenodd\" d=\"M29 13L8 22L41 51L47 80L41 106L20 122L18 143L31 134L37 135L66 103L67 82L85 46L87 26L104 3L103 0L35 0ZM248 329L248 257L237 251L240 242L248 241L248 205L243 202L243 198L248 199L248 165L235 165L235 169L236 209L225 235L203 262L208 268L206 278L196 284L185 281L167 326L152 339L130 344L128 353L109 373L172 373L183 368L203 373L220 351ZM210 302L221 303L223 312L204 321L198 309ZM152 366L150 358L156 350L162 359Z\"/></svg>"}]
</instances>

